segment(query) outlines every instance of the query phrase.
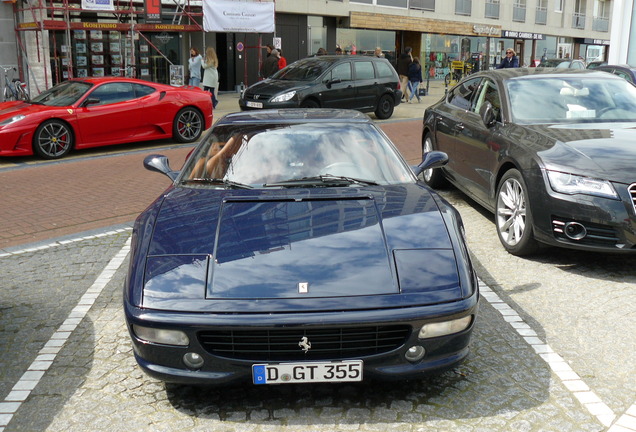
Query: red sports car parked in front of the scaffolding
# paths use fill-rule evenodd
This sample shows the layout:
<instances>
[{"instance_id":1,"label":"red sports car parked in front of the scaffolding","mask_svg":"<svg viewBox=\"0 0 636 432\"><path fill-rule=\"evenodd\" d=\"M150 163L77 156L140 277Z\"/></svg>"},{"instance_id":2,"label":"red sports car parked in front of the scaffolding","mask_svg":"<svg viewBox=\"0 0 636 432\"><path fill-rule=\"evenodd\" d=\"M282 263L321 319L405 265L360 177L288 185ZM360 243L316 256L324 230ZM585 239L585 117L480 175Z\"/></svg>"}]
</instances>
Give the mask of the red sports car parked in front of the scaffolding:
<instances>
[{"instance_id":1,"label":"red sports car parked in front of the scaffolding","mask_svg":"<svg viewBox=\"0 0 636 432\"><path fill-rule=\"evenodd\" d=\"M0 157L56 159L73 148L170 137L193 142L210 126L212 99L199 88L72 79L30 101L0 103Z\"/></svg>"}]
</instances>

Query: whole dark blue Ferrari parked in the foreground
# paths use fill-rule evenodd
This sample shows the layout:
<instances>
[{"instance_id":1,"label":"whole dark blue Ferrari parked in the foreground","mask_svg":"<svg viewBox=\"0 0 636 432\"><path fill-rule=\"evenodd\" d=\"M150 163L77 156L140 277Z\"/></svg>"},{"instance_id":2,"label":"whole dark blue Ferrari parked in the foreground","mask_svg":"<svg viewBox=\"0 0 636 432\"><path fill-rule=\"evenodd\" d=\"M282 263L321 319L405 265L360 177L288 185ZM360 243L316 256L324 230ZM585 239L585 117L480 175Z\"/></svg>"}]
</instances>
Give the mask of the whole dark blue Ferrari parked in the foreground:
<instances>
[{"instance_id":1,"label":"whole dark blue Ferrari parked in the foreground","mask_svg":"<svg viewBox=\"0 0 636 432\"><path fill-rule=\"evenodd\" d=\"M168 382L413 378L468 354L478 283L457 211L364 114L220 119L137 219L124 287L141 368Z\"/></svg>"}]
</instances>

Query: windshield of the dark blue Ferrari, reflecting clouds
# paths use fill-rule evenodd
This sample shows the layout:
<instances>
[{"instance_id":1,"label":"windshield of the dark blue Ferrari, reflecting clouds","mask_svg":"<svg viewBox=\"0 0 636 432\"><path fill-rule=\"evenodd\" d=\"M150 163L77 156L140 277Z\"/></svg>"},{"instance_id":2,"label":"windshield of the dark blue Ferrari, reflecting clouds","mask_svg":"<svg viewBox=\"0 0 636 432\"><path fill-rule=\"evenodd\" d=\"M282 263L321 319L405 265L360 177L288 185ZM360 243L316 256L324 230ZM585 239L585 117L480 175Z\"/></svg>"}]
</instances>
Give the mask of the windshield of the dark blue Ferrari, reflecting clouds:
<instances>
[{"instance_id":1,"label":"windshield of the dark blue Ferrari, reflecting clouds","mask_svg":"<svg viewBox=\"0 0 636 432\"><path fill-rule=\"evenodd\" d=\"M181 181L213 187L326 187L415 181L393 145L371 124L216 126Z\"/></svg>"}]
</instances>

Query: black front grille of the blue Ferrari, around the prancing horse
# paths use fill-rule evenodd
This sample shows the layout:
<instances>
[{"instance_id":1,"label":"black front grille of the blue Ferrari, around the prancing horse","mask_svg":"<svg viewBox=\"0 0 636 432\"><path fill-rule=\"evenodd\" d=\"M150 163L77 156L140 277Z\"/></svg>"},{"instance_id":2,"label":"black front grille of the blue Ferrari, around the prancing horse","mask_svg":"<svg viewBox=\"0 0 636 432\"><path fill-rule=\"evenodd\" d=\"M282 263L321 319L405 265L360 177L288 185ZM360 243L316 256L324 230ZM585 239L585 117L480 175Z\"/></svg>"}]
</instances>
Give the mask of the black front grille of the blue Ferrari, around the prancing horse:
<instances>
[{"instance_id":1,"label":"black front grille of the blue Ferrari, around the prancing horse","mask_svg":"<svg viewBox=\"0 0 636 432\"><path fill-rule=\"evenodd\" d=\"M215 330L198 334L210 354L240 360L295 361L360 358L392 351L404 345L411 333L405 325L299 328L270 330ZM299 343L307 338L305 353Z\"/></svg>"}]
</instances>

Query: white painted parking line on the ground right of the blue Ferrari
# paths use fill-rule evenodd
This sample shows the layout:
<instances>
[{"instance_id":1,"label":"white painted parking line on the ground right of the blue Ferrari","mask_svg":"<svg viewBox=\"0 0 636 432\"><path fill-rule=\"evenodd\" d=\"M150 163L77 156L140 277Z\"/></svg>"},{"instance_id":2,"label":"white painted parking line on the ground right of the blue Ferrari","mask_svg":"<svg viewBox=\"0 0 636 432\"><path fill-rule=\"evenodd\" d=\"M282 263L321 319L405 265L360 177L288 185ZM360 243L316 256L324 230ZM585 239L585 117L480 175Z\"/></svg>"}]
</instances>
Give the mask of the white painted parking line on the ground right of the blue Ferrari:
<instances>
[{"instance_id":1,"label":"white painted parking line on the ground right of the blue Ferrari","mask_svg":"<svg viewBox=\"0 0 636 432\"><path fill-rule=\"evenodd\" d=\"M492 307L497 309L503 319L515 329L515 331L526 341L528 345L547 364L554 374L563 383L576 399L598 419L605 427L610 427L608 432L636 431L636 405L632 406L616 423L616 414L594 393L581 377L570 367L570 365L559 354L539 338L537 333L519 316L519 314L504 302L497 293L490 287L479 281L481 296ZM624 418L625 417L625 418ZM614 425L612 425L614 423ZM620 428L620 429L619 429Z\"/></svg>"}]
</instances>

